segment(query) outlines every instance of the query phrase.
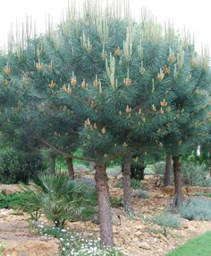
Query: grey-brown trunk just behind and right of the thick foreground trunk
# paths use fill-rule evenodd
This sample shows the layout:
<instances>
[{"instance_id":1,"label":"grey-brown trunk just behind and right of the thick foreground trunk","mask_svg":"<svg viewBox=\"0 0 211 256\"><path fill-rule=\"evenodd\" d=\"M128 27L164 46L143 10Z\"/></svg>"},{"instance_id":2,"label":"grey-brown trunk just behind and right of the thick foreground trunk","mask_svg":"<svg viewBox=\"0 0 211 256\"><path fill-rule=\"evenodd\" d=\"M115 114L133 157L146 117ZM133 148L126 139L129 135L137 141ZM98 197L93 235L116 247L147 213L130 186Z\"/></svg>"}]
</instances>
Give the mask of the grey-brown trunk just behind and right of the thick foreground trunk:
<instances>
[{"instance_id":1,"label":"grey-brown trunk just behind and right of the thick foreground trunk","mask_svg":"<svg viewBox=\"0 0 211 256\"><path fill-rule=\"evenodd\" d=\"M132 216L131 204L131 161L125 159L123 163L123 207L128 216Z\"/></svg>"}]
</instances>

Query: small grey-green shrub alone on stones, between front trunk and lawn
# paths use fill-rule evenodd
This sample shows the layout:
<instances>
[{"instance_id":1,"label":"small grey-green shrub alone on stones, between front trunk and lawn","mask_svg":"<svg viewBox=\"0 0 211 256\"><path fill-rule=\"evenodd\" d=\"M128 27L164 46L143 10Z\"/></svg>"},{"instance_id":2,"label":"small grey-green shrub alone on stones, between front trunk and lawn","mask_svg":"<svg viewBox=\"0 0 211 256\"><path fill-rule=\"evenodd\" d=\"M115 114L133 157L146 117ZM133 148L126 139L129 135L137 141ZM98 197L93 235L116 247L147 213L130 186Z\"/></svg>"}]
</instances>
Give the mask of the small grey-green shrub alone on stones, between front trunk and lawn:
<instances>
[{"instance_id":1,"label":"small grey-green shrub alone on stones, between front trunk and lawn","mask_svg":"<svg viewBox=\"0 0 211 256\"><path fill-rule=\"evenodd\" d=\"M153 217L152 222L156 225L160 225L164 228L164 234L166 236L166 229L167 228L175 228L180 229L181 223L180 221L175 218L174 216L165 213L164 215L156 215Z\"/></svg>"}]
</instances>

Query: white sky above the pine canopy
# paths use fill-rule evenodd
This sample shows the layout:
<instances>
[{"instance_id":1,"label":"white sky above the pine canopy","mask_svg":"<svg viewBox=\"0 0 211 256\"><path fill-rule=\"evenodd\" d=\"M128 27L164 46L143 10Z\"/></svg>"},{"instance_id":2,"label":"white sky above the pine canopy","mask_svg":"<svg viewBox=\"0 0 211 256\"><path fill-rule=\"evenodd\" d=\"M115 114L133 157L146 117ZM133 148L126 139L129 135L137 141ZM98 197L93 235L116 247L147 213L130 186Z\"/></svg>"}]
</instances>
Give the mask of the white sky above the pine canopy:
<instances>
[{"instance_id":1,"label":"white sky above the pine canopy","mask_svg":"<svg viewBox=\"0 0 211 256\"><path fill-rule=\"evenodd\" d=\"M81 2L81 0L78 0ZM139 16L141 6L147 7L158 22L170 19L181 31L184 26L194 33L197 49L203 42L211 49L211 8L209 0L130 0L131 11ZM59 22L67 0L6 0L0 8L0 47L4 47L11 23L22 22L29 14L35 19L38 31L45 31L46 15Z\"/></svg>"}]
</instances>

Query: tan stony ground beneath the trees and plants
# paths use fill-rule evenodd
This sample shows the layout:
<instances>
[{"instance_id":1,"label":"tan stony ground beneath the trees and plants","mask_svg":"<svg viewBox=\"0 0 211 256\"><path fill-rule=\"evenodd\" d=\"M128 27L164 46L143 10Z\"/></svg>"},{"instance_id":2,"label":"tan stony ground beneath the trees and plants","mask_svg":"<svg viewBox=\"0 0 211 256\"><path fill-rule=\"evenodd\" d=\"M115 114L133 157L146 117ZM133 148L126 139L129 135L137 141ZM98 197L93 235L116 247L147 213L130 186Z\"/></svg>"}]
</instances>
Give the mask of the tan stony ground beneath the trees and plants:
<instances>
[{"instance_id":1,"label":"tan stony ground beneath the trees and plants","mask_svg":"<svg viewBox=\"0 0 211 256\"><path fill-rule=\"evenodd\" d=\"M91 174L88 175L87 172L84 174L86 177L90 178ZM121 179L121 177L119 178ZM122 189L114 188L115 181L116 179L110 177L110 194L112 197L123 198ZM167 230L167 236L165 236L163 229L160 226L153 224L150 219L155 215L163 214L164 210L170 207L173 188L155 188L152 186L150 177L146 181L146 184L150 187L150 198L132 198L135 213L133 218L125 216L122 207L112 208L114 243L117 248L122 250L122 252L127 252L130 256L164 256L167 252L172 251L174 248L198 234L203 234L211 230L211 221L188 221L182 219L180 216L176 216L181 221L181 229L169 229ZM193 188L189 188L188 190L187 188L184 188L183 190L186 194L190 190L194 191ZM198 191L200 188L196 188L196 190ZM190 195L186 195L186 198L187 197L190 197ZM11 251L7 250L6 252L13 252L16 246L16 248L21 248L22 252L25 252L25 256L57 255L59 242L55 239L48 240L46 237L38 237L30 234L27 219L28 216L26 215L14 216L13 210L0 210L0 244L2 242L6 243L8 244L9 249L13 249L11 249ZM78 232L84 232L84 230L86 230L88 233L98 233L99 231L99 226L90 221L86 223L68 223L68 226ZM48 252L45 243L51 248L52 254L45 254ZM30 245L27 246L27 244ZM31 254L32 251L30 248L39 248L39 254ZM16 254L12 255L15 256Z\"/></svg>"}]
</instances>

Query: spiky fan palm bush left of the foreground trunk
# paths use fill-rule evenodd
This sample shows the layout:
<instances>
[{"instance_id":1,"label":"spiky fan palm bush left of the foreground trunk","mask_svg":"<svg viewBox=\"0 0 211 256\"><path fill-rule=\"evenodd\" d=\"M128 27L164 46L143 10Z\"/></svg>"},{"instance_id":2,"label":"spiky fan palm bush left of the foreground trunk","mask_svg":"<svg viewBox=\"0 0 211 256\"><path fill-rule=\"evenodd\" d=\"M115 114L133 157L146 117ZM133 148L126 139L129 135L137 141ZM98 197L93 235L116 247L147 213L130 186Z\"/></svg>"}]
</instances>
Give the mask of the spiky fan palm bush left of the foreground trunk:
<instances>
[{"instance_id":1,"label":"spiky fan palm bush left of the foreground trunk","mask_svg":"<svg viewBox=\"0 0 211 256\"><path fill-rule=\"evenodd\" d=\"M59 175L40 174L29 187L23 187L29 195L22 211L38 218L41 208L55 225L63 226L67 220L86 220L97 212L97 194L82 181L72 181L65 173Z\"/></svg>"}]
</instances>

